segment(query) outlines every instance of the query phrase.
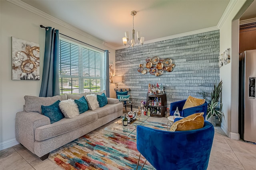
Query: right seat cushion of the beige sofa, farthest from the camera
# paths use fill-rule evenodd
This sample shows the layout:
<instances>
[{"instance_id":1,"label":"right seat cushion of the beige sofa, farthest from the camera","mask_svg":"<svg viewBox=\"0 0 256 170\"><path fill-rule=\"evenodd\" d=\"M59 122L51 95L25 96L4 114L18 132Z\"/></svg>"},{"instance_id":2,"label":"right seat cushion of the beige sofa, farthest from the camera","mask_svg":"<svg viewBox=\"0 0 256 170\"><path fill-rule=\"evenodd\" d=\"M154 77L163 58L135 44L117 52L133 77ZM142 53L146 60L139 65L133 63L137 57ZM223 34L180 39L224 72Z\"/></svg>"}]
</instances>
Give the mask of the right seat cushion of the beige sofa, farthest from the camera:
<instances>
[{"instance_id":1,"label":"right seat cushion of the beige sofa, farthest from the camera","mask_svg":"<svg viewBox=\"0 0 256 170\"><path fill-rule=\"evenodd\" d=\"M97 109L93 110L98 113L98 119L105 117L106 115L110 115L112 113L115 113L119 110L123 109L123 104L118 103L118 104L107 104L104 107L98 107ZM88 110L91 111L91 110Z\"/></svg>"}]
</instances>

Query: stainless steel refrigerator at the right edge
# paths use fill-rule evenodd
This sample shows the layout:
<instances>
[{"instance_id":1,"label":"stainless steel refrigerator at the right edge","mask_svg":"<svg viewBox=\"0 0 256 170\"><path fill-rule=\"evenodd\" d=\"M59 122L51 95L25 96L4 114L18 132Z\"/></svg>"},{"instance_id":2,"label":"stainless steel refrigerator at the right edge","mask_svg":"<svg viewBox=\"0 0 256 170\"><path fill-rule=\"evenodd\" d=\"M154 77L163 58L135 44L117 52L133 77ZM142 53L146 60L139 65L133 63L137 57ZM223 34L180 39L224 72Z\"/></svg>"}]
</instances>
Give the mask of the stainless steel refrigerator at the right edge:
<instances>
[{"instance_id":1,"label":"stainless steel refrigerator at the right edge","mask_svg":"<svg viewBox=\"0 0 256 170\"><path fill-rule=\"evenodd\" d=\"M239 63L239 133L256 143L256 50L244 51Z\"/></svg>"}]
</instances>

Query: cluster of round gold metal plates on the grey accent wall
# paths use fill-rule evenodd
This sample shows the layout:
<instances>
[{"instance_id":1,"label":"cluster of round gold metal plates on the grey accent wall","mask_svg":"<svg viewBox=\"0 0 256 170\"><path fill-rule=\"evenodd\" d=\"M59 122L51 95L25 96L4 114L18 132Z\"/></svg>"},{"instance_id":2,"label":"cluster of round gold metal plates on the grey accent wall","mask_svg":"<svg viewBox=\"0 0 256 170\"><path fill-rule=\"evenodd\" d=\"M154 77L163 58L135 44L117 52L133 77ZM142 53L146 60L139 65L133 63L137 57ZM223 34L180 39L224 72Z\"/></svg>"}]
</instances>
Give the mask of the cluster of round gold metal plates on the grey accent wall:
<instances>
[{"instance_id":1,"label":"cluster of round gold metal plates on the grey accent wall","mask_svg":"<svg viewBox=\"0 0 256 170\"><path fill-rule=\"evenodd\" d=\"M172 59L159 59L155 56L146 58L146 64L140 64L137 70L142 74L149 72L152 75L160 76L164 71L171 72L174 67L175 64L172 63Z\"/></svg>"}]
</instances>

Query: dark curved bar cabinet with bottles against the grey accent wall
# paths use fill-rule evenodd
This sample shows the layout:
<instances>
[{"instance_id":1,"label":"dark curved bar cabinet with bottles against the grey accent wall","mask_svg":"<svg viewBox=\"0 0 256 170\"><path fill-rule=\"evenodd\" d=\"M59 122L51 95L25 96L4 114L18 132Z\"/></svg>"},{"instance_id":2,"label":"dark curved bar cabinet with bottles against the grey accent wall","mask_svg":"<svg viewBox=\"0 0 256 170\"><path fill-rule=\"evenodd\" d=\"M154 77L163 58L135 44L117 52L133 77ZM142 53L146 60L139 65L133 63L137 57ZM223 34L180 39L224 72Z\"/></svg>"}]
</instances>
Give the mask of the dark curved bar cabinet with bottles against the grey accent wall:
<instances>
[{"instance_id":1,"label":"dark curved bar cabinet with bottles against the grey accent wall","mask_svg":"<svg viewBox=\"0 0 256 170\"><path fill-rule=\"evenodd\" d=\"M154 100L154 98L161 98L161 106L151 106L148 103L148 100ZM153 94L153 93L148 93L147 94L147 106L148 108L150 108L150 116L152 117L164 117L164 113L166 111L167 108L167 100L166 100L166 94ZM161 109L161 112L159 113L159 115L157 114L153 114L151 109L156 109L158 107L158 109Z\"/></svg>"}]
</instances>

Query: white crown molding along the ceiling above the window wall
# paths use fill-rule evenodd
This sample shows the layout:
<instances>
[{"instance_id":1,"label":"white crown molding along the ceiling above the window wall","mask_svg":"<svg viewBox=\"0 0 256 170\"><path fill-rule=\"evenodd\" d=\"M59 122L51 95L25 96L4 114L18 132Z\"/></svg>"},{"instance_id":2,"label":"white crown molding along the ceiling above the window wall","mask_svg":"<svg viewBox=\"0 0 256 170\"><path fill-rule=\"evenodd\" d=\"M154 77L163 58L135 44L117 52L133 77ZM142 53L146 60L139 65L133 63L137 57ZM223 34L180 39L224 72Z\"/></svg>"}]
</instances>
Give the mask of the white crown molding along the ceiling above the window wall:
<instances>
[{"instance_id":1,"label":"white crown molding along the ceiling above the window wall","mask_svg":"<svg viewBox=\"0 0 256 170\"><path fill-rule=\"evenodd\" d=\"M59 20L58 18L55 18L55 17L53 17L49 14L46 14L45 12L42 12L41 10L38 10L37 8L34 8L33 6L30 6L30 5L26 4L25 2L22 2L21 0L7 0L7 1L11 2L12 4L15 4L17 6L20 6L21 8L24 8L25 10L33 12L34 14L37 14L38 16L46 18L47 20L50 20L50 21L52 21L54 23L57 23L57 24L59 24L63 27L66 27L67 29L70 29L70 30L72 30L72 31L74 31L74 32L76 32L80 35L83 35L84 37L87 37L89 39L92 39L93 41L96 41L100 44L106 45L106 46L114 49L114 47L111 47L111 45L109 45L108 43L106 43L102 39L98 39L98 38L84 32L84 31L82 31L81 29L78 29L78 28L70 25L69 23L66 23L62 20ZM38 25L38 27L39 27L39 25Z\"/></svg>"}]
</instances>

